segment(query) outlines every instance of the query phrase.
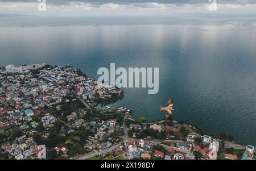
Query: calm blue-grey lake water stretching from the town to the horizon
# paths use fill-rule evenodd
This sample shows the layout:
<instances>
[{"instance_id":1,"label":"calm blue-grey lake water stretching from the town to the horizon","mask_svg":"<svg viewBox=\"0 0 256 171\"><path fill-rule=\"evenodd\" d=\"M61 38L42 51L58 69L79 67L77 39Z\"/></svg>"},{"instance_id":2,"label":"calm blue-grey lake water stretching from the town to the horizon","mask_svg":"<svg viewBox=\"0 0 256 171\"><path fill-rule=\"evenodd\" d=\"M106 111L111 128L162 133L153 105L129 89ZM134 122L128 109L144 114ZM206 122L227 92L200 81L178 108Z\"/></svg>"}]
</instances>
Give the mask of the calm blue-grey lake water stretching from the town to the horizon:
<instances>
[{"instance_id":1,"label":"calm blue-grey lake water stretching from the town to the horizon","mask_svg":"<svg viewBox=\"0 0 256 171\"><path fill-rule=\"evenodd\" d=\"M0 17L0 64L73 65L95 79L110 62L159 67L158 94L125 89L112 106L163 119L172 97L175 120L256 145L255 19L119 20Z\"/></svg>"}]
</instances>

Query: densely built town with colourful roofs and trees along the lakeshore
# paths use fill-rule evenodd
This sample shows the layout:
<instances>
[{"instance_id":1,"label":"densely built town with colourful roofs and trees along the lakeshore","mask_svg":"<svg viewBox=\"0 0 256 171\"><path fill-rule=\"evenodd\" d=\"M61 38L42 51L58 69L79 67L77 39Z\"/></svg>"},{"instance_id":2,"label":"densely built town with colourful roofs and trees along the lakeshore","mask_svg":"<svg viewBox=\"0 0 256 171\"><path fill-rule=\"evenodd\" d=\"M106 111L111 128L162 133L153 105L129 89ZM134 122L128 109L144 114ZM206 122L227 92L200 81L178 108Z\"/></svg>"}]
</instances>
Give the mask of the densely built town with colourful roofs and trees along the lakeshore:
<instances>
[{"instance_id":1,"label":"densely built town with colourful roofs and trees along the lakeshore","mask_svg":"<svg viewBox=\"0 0 256 171\"><path fill-rule=\"evenodd\" d=\"M0 68L0 159L255 159L233 136L108 106L123 95L73 66Z\"/></svg>"}]
</instances>

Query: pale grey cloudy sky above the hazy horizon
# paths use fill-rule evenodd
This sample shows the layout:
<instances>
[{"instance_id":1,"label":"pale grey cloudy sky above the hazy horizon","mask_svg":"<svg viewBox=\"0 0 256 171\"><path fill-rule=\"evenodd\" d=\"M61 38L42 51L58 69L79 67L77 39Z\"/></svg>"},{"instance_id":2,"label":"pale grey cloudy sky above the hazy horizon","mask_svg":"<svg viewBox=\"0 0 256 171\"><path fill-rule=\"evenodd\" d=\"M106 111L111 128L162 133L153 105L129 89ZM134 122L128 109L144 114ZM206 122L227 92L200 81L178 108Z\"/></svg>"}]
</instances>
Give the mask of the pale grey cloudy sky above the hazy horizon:
<instances>
[{"instance_id":1,"label":"pale grey cloudy sky above the hazy horizon","mask_svg":"<svg viewBox=\"0 0 256 171\"><path fill-rule=\"evenodd\" d=\"M38 10L46 1L46 11ZM209 2L210 1L210 2ZM214 10L216 1L217 10ZM42 4L42 3L41 3ZM209 10L210 9L210 10ZM23 15L256 14L256 0L0 0L0 13Z\"/></svg>"}]
</instances>

